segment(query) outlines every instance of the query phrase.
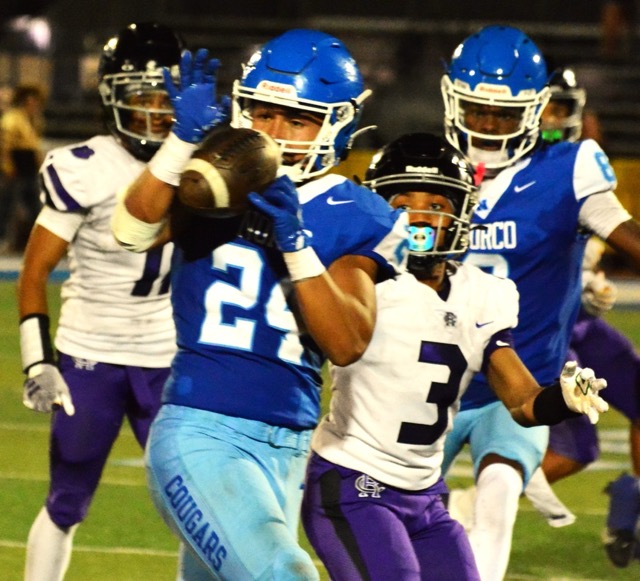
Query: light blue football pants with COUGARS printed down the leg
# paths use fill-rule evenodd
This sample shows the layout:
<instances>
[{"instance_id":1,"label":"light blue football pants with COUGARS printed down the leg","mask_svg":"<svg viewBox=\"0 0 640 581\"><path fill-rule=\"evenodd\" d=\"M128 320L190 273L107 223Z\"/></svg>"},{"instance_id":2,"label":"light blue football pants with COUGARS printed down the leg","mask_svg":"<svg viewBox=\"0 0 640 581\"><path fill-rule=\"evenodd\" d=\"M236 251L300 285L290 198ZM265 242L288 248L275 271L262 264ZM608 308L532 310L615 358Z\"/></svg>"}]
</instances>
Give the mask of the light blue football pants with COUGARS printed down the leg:
<instances>
[{"instance_id":1,"label":"light blue football pants with COUGARS printed down the leg","mask_svg":"<svg viewBox=\"0 0 640 581\"><path fill-rule=\"evenodd\" d=\"M163 405L146 451L185 581L317 580L298 522L311 431Z\"/></svg>"}]
</instances>

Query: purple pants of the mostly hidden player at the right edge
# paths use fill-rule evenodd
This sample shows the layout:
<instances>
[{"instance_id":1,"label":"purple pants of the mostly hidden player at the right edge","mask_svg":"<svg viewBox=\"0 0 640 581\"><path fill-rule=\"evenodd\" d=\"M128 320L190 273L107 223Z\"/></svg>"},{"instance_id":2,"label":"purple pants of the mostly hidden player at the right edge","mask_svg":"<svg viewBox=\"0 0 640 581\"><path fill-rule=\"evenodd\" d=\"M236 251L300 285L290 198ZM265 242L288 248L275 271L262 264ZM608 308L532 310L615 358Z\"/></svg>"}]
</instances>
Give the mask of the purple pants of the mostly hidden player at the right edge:
<instances>
[{"instance_id":1,"label":"purple pants of the mostly hidden player at the right edge","mask_svg":"<svg viewBox=\"0 0 640 581\"><path fill-rule=\"evenodd\" d=\"M600 395L630 421L640 418L640 356L622 333L603 319L580 313L571 336L568 360L591 367L607 380ZM549 448L580 464L600 453L596 427L586 416L551 426Z\"/></svg>"}]
</instances>

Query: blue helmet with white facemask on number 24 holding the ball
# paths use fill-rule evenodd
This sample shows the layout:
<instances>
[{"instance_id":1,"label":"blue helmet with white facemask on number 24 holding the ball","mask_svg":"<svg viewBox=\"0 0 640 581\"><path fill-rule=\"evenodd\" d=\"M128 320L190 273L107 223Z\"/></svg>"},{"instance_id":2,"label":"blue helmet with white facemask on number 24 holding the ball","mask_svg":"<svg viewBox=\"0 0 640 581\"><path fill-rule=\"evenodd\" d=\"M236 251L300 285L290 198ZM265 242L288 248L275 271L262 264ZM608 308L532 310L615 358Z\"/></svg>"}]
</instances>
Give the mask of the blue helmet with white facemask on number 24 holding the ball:
<instances>
[{"instance_id":1,"label":"blue helmet with white facemask on number 24 holding the ball","mask_svg":"<svg viewBox=\"0 0 640 581\"><path fill-rule=\"evenodd\" d=\"M321 175L346 158L363 101L371 94L344 44L316 30L296 29L267 42L233 86L233 127L251 127L251 104L302 109L323 121L313 141L277 140L282 153L305 154L283 166L294 182Z\"/></svg>"}]
</instances>

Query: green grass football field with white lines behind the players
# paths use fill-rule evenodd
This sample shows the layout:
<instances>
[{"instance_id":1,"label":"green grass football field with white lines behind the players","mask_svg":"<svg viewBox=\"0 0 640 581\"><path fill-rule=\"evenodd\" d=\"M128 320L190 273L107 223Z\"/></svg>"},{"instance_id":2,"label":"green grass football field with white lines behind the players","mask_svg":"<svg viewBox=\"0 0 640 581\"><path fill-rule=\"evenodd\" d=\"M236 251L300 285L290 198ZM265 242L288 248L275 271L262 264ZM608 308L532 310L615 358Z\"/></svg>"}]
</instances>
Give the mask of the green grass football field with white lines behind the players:
<instances>
[{"instance_id":1,"label":"green grass football field with white lines behind the players","mask_svg":"<svg viewBox=\"0 0 640 581\"><path fill-rule=\"evenodd\" d=\"M51 285L57 312L59 287ZM614 310L611 322L640 345L640 311ZM14 283L0 282L0 580L22 579L25 542L48 482L49 418L21 403L18 316ZM609 564L601 546L605 485L628 469L627 423L616 412L600 423L602 455L588 470L555 490L578 519L549 527L526 499L516 523L507 579L640 579L640 561L628 569ZM469 463L455 465L453 486L471 483ZM303 539L305 547L308 547ZM75 536L67 581L171 581L177 541L156 514L145 487L142 453L128 426L122 430L89 516ZM323 579L326 573L318 563ZM393 581L393 580L390 580ZM434 580L438 581L438 580Z\"/></svg>"}]
</instances>

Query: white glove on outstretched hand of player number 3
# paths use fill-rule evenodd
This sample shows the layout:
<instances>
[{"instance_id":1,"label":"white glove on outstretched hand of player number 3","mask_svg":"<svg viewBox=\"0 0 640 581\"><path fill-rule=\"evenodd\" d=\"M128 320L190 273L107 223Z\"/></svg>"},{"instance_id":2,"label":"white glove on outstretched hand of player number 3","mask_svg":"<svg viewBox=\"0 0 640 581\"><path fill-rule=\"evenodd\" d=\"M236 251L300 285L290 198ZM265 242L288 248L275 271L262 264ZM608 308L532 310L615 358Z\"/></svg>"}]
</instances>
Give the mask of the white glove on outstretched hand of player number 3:
<instances>
[{"instance_id":1,"label":"white glove on outstretched hand of player number 3","mask_svg":"<svg viewBox=\"0 0 640 581\"><path fill-rule=\"evenodd\" d=\"M560 387L567 407L585 414L592 424L597 424L600 414L609 409L609 404L598 395L607 387L607 380L596 377L593 369L581 369L575 361L567 361L560 374Z\"/></svg>"}]
</instances>

